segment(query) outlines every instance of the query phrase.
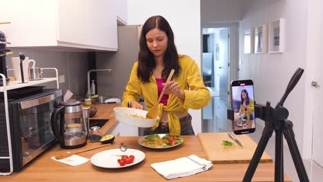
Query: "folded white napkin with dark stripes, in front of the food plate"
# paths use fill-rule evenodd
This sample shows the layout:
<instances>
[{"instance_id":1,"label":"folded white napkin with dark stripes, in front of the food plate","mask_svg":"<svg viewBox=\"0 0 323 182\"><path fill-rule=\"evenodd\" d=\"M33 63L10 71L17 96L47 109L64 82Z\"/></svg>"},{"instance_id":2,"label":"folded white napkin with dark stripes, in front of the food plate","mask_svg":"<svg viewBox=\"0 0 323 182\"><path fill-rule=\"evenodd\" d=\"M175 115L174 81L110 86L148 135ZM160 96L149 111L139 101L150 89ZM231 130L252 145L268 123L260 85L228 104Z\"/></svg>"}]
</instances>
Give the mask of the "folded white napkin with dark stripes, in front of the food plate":
<instances>
[{"instance_id":1,"label":"folded white napkin with dark stripes, in front of the food plate","mask_svg":"<svg viewBox=\"0 0 323 182\"><path fill-rule=\"evenodd\" d=\"M211 168L212 165L211 161L206 161L196 155L190 155L172 161L153 163L151 167L166 179L175 179L204 172Z\"/></svg>"}]
</instances>

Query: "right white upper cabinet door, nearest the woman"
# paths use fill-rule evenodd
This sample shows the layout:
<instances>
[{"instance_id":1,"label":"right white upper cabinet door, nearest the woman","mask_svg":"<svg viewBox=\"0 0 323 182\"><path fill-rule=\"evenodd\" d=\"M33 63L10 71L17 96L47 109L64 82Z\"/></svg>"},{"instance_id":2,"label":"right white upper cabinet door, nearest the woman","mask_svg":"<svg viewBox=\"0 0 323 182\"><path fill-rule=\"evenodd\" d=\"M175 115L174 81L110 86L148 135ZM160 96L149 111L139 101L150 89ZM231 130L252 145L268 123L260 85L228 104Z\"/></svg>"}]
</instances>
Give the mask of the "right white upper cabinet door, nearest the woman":
<instances>
[{"instance_id":1,"label":"right white upper cabinet door, nearest the woman","mask_svg":"<svg viewBox=\"0 0 323 182\"><path fill-rule=\"evenodd\" d=\"M57 40L117 50L117 17L112 0L58 0Z\"/></svg>"}]
</instances>

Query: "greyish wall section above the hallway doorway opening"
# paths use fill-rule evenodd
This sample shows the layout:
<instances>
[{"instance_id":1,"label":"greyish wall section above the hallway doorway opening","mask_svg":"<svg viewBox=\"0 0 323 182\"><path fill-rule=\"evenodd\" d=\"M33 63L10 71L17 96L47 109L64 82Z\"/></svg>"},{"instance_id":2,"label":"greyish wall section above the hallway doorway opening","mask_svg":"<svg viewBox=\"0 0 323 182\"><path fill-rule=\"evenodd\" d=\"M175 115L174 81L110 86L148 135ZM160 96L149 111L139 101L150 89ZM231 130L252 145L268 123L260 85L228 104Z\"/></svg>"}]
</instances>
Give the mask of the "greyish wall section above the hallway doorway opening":
<instances>
[{"instance_id":1,"label":"greyish wall section above the hallway doorway opening","mask_svg":"<svg viewBox=\"0 0 323 182\"><path fill-rule=\"evenodd\" d=\"M244 0L201 0L202 22L237 22L242 20Z\"/></svg>"}]
</instances>

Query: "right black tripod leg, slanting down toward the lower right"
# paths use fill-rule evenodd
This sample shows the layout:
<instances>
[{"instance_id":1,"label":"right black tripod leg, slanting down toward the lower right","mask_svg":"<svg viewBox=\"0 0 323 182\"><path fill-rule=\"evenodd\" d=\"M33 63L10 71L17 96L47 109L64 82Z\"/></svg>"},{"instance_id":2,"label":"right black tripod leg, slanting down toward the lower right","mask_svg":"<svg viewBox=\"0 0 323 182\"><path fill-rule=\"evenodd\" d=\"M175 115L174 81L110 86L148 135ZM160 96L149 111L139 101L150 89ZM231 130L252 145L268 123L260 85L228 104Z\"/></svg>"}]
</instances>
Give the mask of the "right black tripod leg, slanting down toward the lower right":
<instances>
[{"instance_id":1,"label":"right black tripod leg, slanting down toward the lower right","mask_svg":"<svg viewBox=\"0 0 323 182\"><path fill-rule=\"evenodd\" d=\"M300 150L298 150L297 143L295 141L295 134L293 132L293 123L291 121L285 120L286 125L288 125L288 130L285 130L284 136L288 143L289 151L293 157L293 162L297 170L298 178L300 181L309 181L309 176L307 176L302 157L300 156Z\"/></svg>"}]
</instances>

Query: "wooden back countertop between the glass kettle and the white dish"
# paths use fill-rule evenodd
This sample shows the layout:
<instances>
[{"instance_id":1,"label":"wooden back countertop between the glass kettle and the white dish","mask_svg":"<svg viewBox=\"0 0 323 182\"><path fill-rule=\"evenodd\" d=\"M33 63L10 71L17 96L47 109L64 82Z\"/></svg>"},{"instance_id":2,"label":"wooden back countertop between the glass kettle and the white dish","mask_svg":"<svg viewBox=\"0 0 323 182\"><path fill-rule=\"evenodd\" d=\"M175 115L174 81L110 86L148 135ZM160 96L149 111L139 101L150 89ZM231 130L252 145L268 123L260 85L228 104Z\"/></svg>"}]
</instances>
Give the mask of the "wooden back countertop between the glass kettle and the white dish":
<instances>
[{"instance_id":1,"label":"wooden back countertop between the glass kettle and the white dish","mask_svg":"<svg viewBox=\"0 0 323 182\"><path fill-rule=\"evenodd\" d=\"M91 107L97 108L97 114L91 119L109 119L106 124L101 127L101 132L106 134L106 132L110 132L117 125L118 121L115 120L115 112L113 108L121 107L121 103L107 103L107 104L92 104Z\"/></svg>"}]
</instances>

